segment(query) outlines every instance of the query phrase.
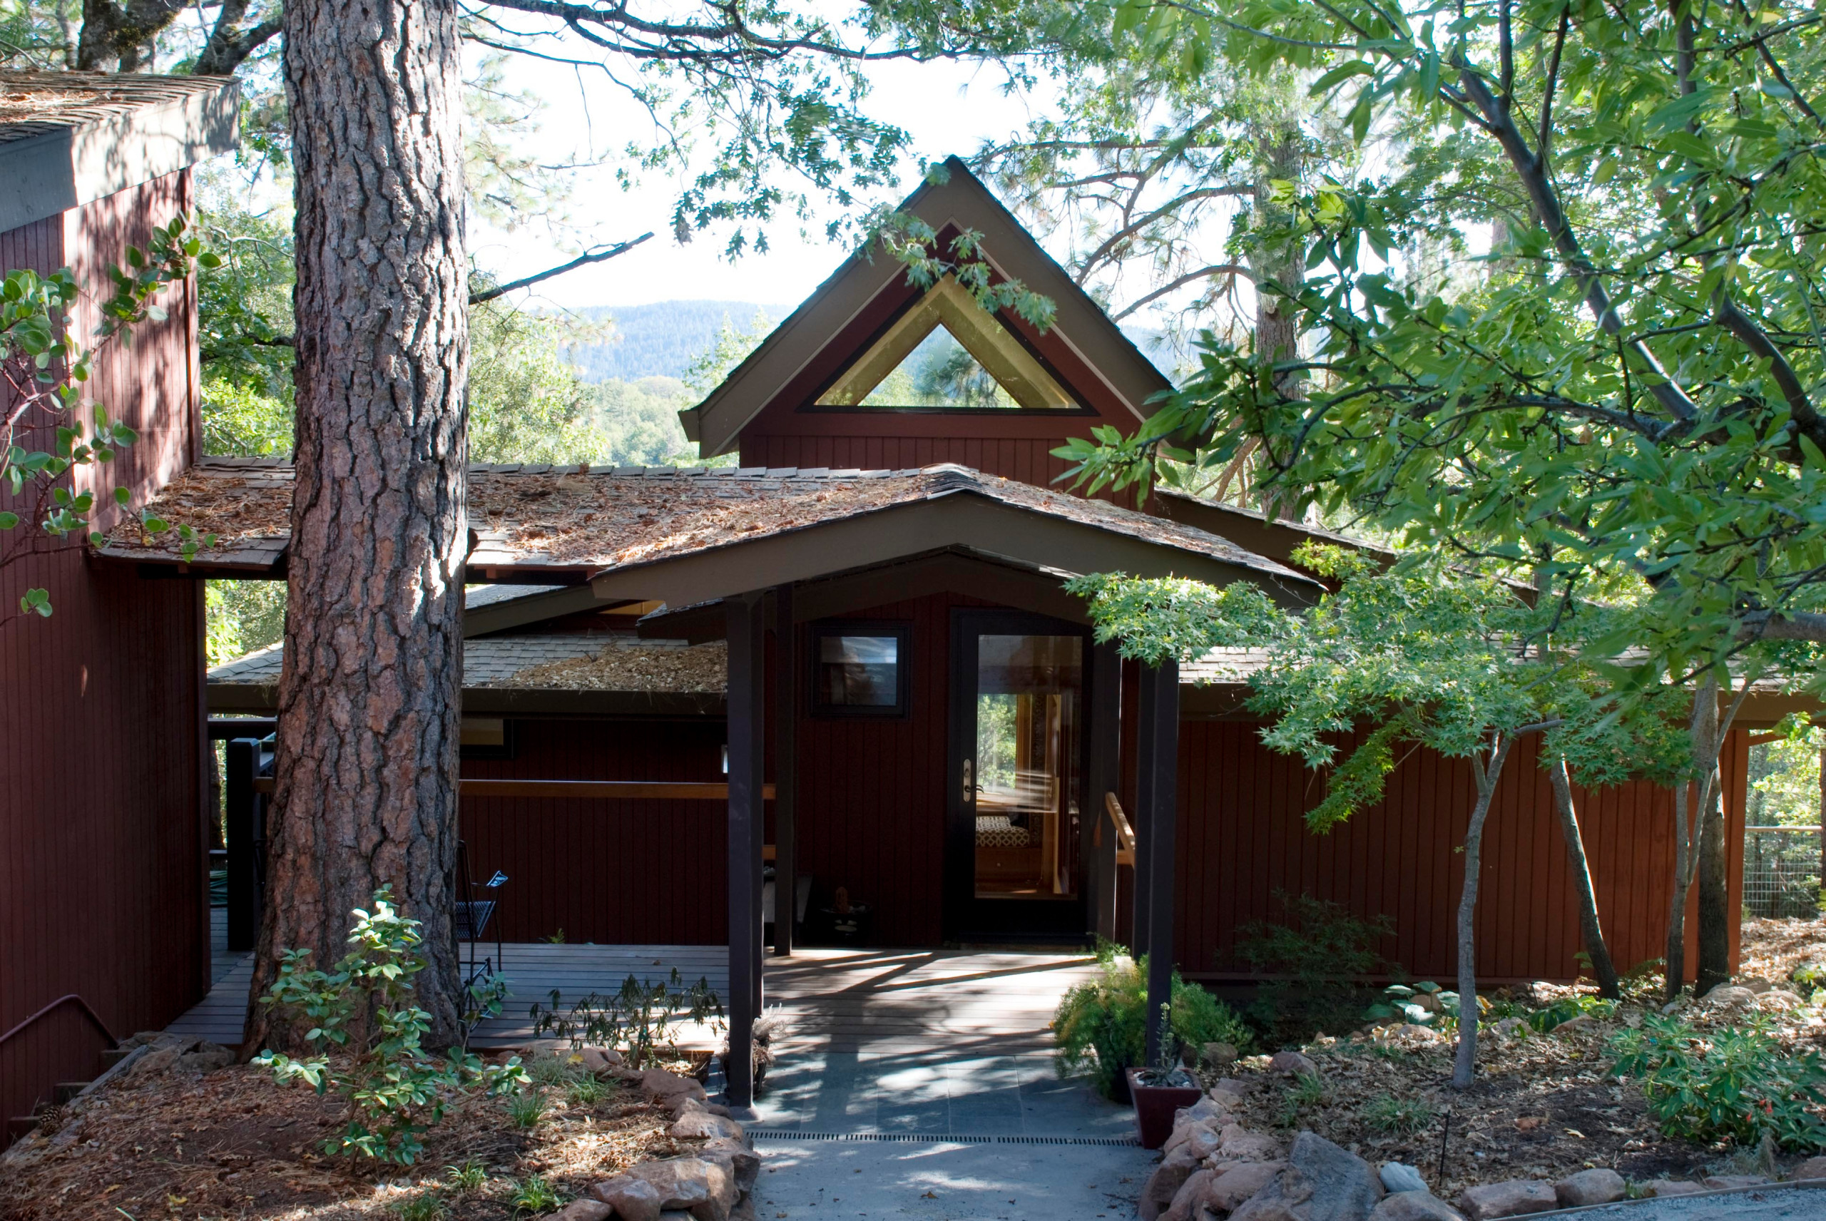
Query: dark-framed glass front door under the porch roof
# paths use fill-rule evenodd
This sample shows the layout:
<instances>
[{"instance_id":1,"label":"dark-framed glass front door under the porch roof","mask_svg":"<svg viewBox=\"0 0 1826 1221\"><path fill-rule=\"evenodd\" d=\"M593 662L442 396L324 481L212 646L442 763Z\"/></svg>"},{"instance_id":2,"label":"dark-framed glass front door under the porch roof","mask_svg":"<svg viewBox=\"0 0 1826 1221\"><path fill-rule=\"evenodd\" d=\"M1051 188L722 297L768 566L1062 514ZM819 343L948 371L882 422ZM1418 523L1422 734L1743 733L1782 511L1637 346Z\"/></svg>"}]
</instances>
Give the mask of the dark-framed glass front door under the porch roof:
<instances>
[{"instance_id":1,"label":"dark-framed glass front door under the porch roof","mask_svg":"<svg viewBox=\"0 0 1826 1221\"><path fill-rule=\"evenodd\" d=\"M960 611L948 889L960 938L1081 936L1088 641Z\"/></svg>"}]
</instances>

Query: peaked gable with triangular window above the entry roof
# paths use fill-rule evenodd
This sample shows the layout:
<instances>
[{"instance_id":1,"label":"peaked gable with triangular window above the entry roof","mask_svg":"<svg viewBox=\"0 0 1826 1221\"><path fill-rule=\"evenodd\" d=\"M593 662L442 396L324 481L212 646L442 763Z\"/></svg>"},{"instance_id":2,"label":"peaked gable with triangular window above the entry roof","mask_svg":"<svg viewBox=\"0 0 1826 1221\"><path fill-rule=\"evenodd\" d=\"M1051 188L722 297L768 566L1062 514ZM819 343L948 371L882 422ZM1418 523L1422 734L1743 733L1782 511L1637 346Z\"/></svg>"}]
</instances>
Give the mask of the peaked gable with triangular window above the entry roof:
<instances>
[{"instance_id":1,"label":"peaked gable with triangular window above the entry roof","mask_svg":"<svg viewBox=\"0 0 1826 1221\"><path fill-rule=\"evenodd\" d=\"M864 402L937 323L959 339L1013 403L977 407L1001 422L984 422L975 431L999 436L1032 431L1063 440L1065 433L1083 434L1092 423L1114 423L1127 431L1150 414L1149 400L1170 389L1167 378L962 161L950 157L944 168L944 183L922 184L902 208L931 224L942 245L960 230L981 234L982 257L997 276L1017 279L1054 301L1054 325L1039 332L1006 310L990 316L970 301L970 294L948 287L948 279L918 288L908 283L900 263L862 250L844 259L698 407L681 412L685 434L701 445L705 456L736 449L745 444L743 434L754 431L844 429L840 422L816 420L824 412L851 420L918 411L955 414L959 407L951 405L882 407ZM971 318L957 297L964 297L981 318ZM1004 332L1008 341L995 332ZM1068 427L1059 420L1039 425L1028 420L1035 414L1085 420ZM973 425L931 420L913 431L957 436L973 431Z\"/></svg>"}]
</instances>

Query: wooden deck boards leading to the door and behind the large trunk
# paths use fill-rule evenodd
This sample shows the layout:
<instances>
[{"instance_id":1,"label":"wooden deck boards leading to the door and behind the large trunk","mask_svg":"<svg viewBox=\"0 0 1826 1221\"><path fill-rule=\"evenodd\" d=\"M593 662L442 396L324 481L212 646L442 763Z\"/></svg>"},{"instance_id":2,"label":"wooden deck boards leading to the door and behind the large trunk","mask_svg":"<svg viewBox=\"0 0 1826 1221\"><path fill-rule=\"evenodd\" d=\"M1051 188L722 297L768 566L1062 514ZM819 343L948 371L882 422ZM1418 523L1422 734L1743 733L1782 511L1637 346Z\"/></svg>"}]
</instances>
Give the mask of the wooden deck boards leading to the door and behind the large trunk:
<instances>
[{"instance_id":1,"label":"wooden deck boards leading to the door and behind the large trunk","mask_svg":"<svg viewBox=\"0 0 1826 1221\"><path fill-rule=\"evenodd\" d=\"M729 958L721 945L546 945L504 947L513 989L498 1018L480 1026L478 1048L533 1037L528 1007L564 1006L584 993L612 993L630 975L666 980L672 969L727 998ZM769 1009L787 1017L787 1051L875 1055L1023 1055L1052 1044L1048 1022L1065 991L1092 973L1086 955L939 949L800 949L767 958ZM210 995L177 1018L173 1033L237 1046L243 1038L252 955L241 956ZM687 1031L679 1044L710 1049L719 1037Z\"/></svg>"}]
</instances>

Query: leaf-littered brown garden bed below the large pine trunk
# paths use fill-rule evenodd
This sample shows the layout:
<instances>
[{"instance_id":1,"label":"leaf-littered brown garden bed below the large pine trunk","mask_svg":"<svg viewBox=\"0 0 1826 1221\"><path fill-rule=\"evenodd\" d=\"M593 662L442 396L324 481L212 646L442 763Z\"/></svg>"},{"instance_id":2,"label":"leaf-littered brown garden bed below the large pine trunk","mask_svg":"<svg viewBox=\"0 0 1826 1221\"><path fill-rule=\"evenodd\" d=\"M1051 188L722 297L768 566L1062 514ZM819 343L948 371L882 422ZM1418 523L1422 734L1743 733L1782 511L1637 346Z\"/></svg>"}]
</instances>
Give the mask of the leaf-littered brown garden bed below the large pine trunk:
<instances>
[{"instance_id":1,"label":"leaf-littered brown garden bed below the large pine trunk","mask_svg":"<svg viewBox=\"0 0 1826 1221\"><path fill-rule=\"evenodd\" d=\"M504 1097L456 1093L416 1164L382 1166L318 1148L340 1126L340 1099L276 1086L257 1068L128 1073L47 1115L0 1166L0 1219L506 1221L551 1212L517 1206L539 1184L573 1199L634 1163L701 1144L668 1137L672 1115L632 1084L535 1077L544 1110L531 1126Z\"/></svg>"}]
</instances>

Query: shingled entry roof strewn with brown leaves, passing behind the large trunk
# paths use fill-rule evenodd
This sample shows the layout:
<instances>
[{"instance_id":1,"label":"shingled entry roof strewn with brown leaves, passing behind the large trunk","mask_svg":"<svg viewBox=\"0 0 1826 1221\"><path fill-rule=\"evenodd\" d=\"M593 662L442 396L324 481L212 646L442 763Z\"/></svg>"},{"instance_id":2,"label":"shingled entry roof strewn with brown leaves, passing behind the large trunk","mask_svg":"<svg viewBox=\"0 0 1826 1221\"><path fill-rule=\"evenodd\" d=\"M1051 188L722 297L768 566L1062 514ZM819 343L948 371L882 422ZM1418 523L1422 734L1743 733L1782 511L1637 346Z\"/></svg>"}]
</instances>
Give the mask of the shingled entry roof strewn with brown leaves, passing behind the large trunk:
<instances>
[{"instance_id":1,"label":"shingled entry roof strewn with brown leaves, passing behind the large trunk","mask_svg":"<svg viewBox=\"0 0 1826 1221\"><path fill-rule=\"evenodd\" d=\"M150 507L164 520L217 535L217 544L199 551L190 569L270 577L283 571L290 540L290 465L206 460L168 484ZM895 515L959 500L993 506L1001 513L971 522L973 533L962 538L935 540L929 548L966 544L986 555L1008 555L1068 573L1097 571L1088 562L1110 560L1108 546L1141 544L1152 557L1149 564L1103 562L1101 568L1165 571L1172 568L1172 557L1180 557L1181 566L1172 571L1220 580L1251 575L1306 595L1320 588L1311 577L1194 526L959 465L906 471L477 465L469 473L475 546L467 579L546 584L595 579L603 597L656 597L683 604L701 599L685 599L679 590L657 586L652 593L632 595L604 588L604 579L617 577L619 584L634 588L645 580L643 571L666 562L708 558L765 540L811 538L811 531L838 524L880 524L882 533L893 533L889 518L900 527L898 537L882 540L884 557L893 558L909 553L904 535L913 526ZM1008 517L1010 511L1015 517ZM1065 527L1070 537L1028 538L1023 553L1013 546L1023 520ZM957 529L962 527L957 524ZM144 535L139 522L130 520L110 533L100 555L168 566L181 562L179 548L175 531ZM834 538L822 551L813 551L811 569L800 557L805 571L780 579L807 579L867 562L856 558L860 551L836 546ZM1225 577L1214 566L1240 571ZM756 588L767 584L776 580L760 580ZM730 591L740 590L719 590L708 597Z\"/></svg>"}]
</instances>

